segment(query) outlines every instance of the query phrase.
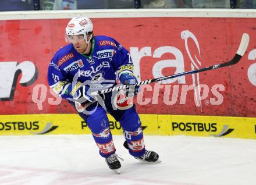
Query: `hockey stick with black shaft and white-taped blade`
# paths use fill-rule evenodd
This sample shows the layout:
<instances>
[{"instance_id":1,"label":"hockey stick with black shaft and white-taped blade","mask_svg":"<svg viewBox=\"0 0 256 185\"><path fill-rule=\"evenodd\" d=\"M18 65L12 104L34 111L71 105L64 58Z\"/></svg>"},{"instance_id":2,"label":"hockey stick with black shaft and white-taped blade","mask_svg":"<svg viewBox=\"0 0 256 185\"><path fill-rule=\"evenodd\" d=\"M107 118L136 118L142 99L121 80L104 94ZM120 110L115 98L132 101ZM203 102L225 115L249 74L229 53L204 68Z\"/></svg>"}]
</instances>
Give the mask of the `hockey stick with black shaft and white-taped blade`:
<instances>
[{"instance_id":1,"label":"hockey stick with black shaft and white-taped blade","mask_svg":"<svg viewBox=\"0 0 256 185\"><path fill-rule=\"evenodd\" d=\"M183 76L183 75L186 75L186 74L200 73L200 72L205 72L207 70L218 69L218 68L221 68L221 67L234 65L234 64L236 64L237 62L240 61L241 57L246 52L246 49L247 49L248 44L249 44L249 40L250 40L249 35L247 33L244 33L242 38L241 38L241 42L240 42L239 48L237 49L236 55L234 55L233 59L229 62L220 63L220 64L210 66L210 67L204 67L202 69L190 70L189 72L173 74L173 75L170 75L170 76L163 76L163 77L159 77L157 79L145 80L145 81L141 81L139 83L136 83L135 85L132 85L132 86L133 87L134 86L141 86L141 85L144 85L144 84L150 84L150 83L155 83L155 82L158 82L158 81L173 79L175 77ZM96 96L96 95L99 95L99 94L109 93L109 92L112 92L112 91L119 91L119 90L122 90L122 89L126 89L128 87L129 87L129 85L115 86L115 87L107 88L107 89L100 90L100 91L94 91L94 92L91 93L91 95Z\"/></svg>"}]
</instances>

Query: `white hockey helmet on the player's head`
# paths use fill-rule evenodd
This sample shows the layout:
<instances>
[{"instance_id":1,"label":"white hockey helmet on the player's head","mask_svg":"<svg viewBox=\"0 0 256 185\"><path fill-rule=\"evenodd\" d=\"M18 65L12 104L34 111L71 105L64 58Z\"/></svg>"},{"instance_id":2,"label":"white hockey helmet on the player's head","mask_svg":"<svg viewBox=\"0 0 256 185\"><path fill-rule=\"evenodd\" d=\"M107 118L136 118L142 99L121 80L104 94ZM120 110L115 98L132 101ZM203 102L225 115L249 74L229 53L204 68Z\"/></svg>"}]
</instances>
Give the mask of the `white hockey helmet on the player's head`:
<instances>
[{"instance_id":1,"label":"white hockey helmet on the player's head","mask_svg":"<svg viewBox=\"0 0 256 185\"><path fill-rule=\"evenodd\" d=\"M91 37L89 38L89 40L87 40L88 33L90 32L93 32L93 22L91 22L88 17L73 17L73 19L70 20L66 27L67 37L69 37L70 35L83 34L87 43L93 37L93 35L91 34Z\"/></svg>"}]
</instances>

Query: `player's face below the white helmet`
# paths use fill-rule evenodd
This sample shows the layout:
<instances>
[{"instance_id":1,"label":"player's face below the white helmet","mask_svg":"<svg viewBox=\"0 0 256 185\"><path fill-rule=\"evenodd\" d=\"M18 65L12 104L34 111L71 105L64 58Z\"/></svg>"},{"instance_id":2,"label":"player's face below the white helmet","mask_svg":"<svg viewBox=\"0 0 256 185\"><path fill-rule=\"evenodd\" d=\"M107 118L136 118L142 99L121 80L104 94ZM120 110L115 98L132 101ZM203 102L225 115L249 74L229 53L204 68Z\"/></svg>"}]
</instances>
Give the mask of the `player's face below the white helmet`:
<instances>
[{"instance_id":1,"label":"player's face below the white helmet","mask_svg":"<svg viewBox=\"0 0 256 185\"><path fill-rule=\"evenodd\" d=\"M69 42L71 42L76 49L77 52L83 54L86 52L88 44L84 39L84 35L69 35L68 36Z\"/></svg>"}]
</instances>

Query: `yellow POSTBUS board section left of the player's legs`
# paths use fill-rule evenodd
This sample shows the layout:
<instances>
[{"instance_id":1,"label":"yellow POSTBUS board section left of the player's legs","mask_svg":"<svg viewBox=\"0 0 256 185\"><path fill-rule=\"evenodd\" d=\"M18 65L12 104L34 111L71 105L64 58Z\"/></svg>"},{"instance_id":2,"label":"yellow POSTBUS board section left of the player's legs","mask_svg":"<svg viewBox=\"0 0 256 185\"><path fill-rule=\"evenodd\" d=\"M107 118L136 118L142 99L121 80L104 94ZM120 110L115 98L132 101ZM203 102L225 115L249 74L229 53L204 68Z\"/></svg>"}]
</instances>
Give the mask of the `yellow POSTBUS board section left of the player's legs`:
<instances>
[{"instance_id":1,"label":"yellow POSTBUS board section left of the player's legs","mask_svg":"<svg viewBox=\"0 0 256 185\"><path fill-rule=\"evenodd\" d=\"M88 134L79 115L1 115L0 135Z\"/></svg>"}]
</instances>

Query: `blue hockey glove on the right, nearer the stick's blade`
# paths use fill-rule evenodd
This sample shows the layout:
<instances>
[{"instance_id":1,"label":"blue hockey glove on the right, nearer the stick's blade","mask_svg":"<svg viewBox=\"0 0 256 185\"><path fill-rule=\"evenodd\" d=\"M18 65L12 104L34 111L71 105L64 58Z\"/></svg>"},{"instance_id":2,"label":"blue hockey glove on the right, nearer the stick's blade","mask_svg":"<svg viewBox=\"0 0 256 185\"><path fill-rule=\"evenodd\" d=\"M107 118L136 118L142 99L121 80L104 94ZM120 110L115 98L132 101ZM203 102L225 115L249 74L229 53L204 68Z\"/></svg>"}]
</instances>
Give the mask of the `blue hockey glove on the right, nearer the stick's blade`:
<instances>
[{"instance_id":1,"label":"blue hockey glove on the right, nearer the stick's blade","mask_svg":"<svg viewBox=\"0 0 256 185\"><path fill-rule=\"evenodd\" d=\"M140 92L140 87L139 86L132 86L138 83L138 80L136 77L133 75L133 73L123 73L119 77L119 81L122 84L129 85L131 86L132 90L134 88L134 95L138 94ZM129 90L130 91L130 90ZM129 92L130 94L130 92Z\"/></svg>"}]
</instances>

